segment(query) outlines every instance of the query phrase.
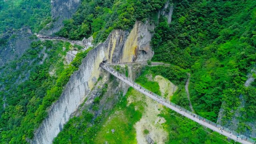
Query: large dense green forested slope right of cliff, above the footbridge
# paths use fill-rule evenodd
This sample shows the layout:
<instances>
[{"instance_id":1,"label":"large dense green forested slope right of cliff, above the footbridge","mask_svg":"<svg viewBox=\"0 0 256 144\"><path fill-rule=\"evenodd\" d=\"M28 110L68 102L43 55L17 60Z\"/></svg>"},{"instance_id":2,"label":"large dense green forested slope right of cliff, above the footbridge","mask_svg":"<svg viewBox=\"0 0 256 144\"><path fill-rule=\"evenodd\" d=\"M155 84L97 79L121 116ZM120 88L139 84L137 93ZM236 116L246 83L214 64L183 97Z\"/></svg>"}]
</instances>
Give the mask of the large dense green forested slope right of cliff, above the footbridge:
<instances>
[{"instance_id":1,"label":"large dense green forested slope right of cliff, above the footbridge","mask_svg":"<svg viewBox=\"0 0 256 144\"><path fill-rule=\"evenodd\" d=\"M162 18L152 40L152 60L191 71L190 92L198 114L228 122L242 113L239 131L256 119L256 87L244 87L256 66L255 0L177 0L172 23ZM242 94L242 99L239 98ZM245 101L244 108L239 106Z\"/></svg>"}]
</instances>

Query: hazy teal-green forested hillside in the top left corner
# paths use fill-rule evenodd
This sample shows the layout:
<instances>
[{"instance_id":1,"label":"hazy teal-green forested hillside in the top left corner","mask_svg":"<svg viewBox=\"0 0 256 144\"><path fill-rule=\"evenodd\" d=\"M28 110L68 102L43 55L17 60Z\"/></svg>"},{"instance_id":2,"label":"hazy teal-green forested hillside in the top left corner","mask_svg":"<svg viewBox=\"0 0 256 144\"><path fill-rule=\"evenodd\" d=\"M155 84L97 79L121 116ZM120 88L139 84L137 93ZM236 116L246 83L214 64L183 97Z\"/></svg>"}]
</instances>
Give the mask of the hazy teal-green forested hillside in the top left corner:
<instances>
[{"instance_id":1,"label":"hazy teal-green forested hillside in the top left corner","mask_svg":"<svg viewBox=\"0 0 256 144\"><path fill-rule=\"evenodd\" d=\"M0 0L0 33L28 26L33 32L51 21L50 0Z\"/></svg>"}]
</instances>

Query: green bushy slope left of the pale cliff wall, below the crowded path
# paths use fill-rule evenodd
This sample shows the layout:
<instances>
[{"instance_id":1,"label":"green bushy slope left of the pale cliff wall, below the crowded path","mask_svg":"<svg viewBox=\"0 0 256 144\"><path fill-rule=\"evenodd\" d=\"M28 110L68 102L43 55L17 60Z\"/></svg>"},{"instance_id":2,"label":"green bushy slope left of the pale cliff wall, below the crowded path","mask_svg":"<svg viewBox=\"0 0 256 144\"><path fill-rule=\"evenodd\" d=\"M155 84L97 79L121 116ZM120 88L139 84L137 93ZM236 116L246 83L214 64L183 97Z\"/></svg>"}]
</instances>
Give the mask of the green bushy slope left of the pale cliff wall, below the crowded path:
<instances>
[{"instance_id":1,"label":"green bushy slope left of the pale cliff wall, below the crowded path","mask_svg":"<svg viewBox=\"0 0 256 144\"><path fill-rule=\"evenodd\" d=\"M65 66L64 57L70 46L69 42L33 42L20 59L1 68L4 88L0 96L6 98L7 103L0 111L1 143L26 143L26 138L33 138L35 128L47 116L46 109L58 100L70 75L78 70L91 50L78 53L71 64ZM41 55L38 57L38 54ZM24 73L28 69L29 76ZM2 99L0 102L3 104Z\"/></svg>"}]
</instances>

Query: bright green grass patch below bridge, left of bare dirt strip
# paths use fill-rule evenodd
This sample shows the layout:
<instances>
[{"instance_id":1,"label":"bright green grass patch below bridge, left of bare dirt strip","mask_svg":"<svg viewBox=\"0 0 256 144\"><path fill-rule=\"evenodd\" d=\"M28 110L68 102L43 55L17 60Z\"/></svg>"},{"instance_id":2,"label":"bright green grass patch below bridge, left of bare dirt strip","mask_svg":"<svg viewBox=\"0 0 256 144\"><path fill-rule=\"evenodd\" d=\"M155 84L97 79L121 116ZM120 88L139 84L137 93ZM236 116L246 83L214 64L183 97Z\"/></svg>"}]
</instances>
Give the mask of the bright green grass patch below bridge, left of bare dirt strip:
<instances>
[{"instance_id":1,"label":"bright green grass patch below bridge, left of bare dirt strip","mask_svg":"<svg viewBox=\"0 0 256 144\"><path fill-rule=\"evenodd\" d=\"M128 94L132 94L135 90L129 88ZM142 116L142 108L135 110L135 104L131 103L127 106L128 94L122 97L122 100L113 109L109 118L102 123L101 129L96 134L95 144L136 144L136 131L134 124L138 122ZM111 130L114 130L112 133Z\"/></svg>"}]
</instances>

